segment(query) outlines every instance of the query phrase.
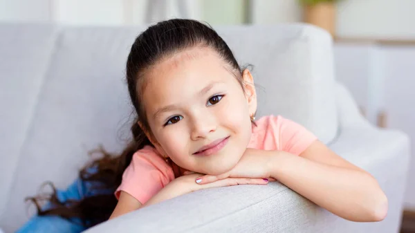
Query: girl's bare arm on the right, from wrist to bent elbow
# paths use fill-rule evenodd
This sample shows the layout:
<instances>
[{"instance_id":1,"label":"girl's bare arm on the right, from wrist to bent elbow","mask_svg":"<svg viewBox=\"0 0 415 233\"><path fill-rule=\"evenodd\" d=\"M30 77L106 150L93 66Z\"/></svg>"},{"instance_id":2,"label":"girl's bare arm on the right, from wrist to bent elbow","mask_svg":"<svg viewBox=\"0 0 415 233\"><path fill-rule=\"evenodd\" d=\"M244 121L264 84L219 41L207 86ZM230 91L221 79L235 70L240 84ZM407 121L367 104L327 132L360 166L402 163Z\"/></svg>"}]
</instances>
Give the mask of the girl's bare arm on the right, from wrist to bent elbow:
<instances>
[{"instance_id":1,"label":"girl's bare arm on the right, from wrist to bent elbow","mask_svg":"<svg viewBox=\"0 0 415 233\"><path fill-rule=\"evenodd\" d=\"M282 151L269 153L271 176L313 203L349 221L385 218L387 198L373 176Z\"/></svg>"}]
</instances>

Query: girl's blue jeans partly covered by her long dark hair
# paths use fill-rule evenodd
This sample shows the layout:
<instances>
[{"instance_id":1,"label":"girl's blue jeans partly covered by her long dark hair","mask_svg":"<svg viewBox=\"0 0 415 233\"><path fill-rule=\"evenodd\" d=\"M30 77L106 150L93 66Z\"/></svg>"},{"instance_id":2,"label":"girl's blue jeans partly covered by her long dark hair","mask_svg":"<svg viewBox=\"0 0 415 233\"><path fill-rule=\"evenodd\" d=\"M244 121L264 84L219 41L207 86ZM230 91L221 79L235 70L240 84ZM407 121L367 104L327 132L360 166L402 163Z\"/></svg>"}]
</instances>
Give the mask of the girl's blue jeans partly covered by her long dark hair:
<instances>
[{"instance_id":1,"label":"girl's blue jeans partly covered by her long dark hair","mask_svg":"<svg viewBox=\"0 0 415 233\"><path fill-rule=\"evenodd\" d=\"M93 171L93 170L91 170ZM68 199L80 201L86 196L93 196L96 192L91 191L90 182L84 182L80 178L75 180L66 190L56 190L59 201L66 201ZM103 192L109 193L109 192ZM50 204L44 208L47 209ZM79 233L86 230L82 226L80 219L73 219L68 221L59 216L33 216L17 233L40 233L40 232L62 232L62 233Z\"/></svg>"}]
</instances>

